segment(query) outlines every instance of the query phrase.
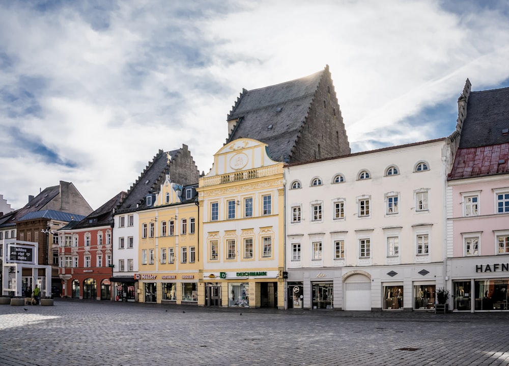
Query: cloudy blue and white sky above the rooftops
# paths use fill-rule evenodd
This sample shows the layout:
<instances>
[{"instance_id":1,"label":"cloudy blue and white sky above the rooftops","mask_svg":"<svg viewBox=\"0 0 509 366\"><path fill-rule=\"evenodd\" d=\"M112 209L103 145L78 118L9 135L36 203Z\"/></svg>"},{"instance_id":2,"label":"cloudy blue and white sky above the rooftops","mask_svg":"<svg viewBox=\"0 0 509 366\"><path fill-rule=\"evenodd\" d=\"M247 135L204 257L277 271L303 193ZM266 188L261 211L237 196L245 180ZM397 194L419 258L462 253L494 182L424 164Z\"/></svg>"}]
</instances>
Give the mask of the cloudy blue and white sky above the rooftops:
<instances>
[{"instance_id":1,"label":"cloudy blue and white sky above the rooftops","mask_svg":"<svg viewBox=\"0 0 509 366\"><path fill-rule=\"evenodd\" d=\"M326 65L352 152L445 137L467 78L509 87L509 2L0 2L0 194L97 209L182 144L207 173L242 88Z\"/></svg>"}]
</instances>

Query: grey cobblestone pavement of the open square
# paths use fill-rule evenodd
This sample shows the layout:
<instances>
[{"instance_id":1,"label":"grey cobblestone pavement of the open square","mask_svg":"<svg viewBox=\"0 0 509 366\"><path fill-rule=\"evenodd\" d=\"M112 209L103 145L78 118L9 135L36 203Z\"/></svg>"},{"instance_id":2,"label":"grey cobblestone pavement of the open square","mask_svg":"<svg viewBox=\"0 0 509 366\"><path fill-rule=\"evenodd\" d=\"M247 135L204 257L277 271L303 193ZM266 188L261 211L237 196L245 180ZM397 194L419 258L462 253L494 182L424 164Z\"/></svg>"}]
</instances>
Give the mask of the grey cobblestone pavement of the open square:
<instances>
[{"instance_id":1,"label":"grey cobblestone pavement of the open square","mask_svg":"<svg viewBox=\"0 0 509 366\"><path fill-rule=\"evenodd\" d=\"M24 310L27 309L27 310ZM0 365L499 365L509 314L0 305Z\"/></svg>"}]
</instances>

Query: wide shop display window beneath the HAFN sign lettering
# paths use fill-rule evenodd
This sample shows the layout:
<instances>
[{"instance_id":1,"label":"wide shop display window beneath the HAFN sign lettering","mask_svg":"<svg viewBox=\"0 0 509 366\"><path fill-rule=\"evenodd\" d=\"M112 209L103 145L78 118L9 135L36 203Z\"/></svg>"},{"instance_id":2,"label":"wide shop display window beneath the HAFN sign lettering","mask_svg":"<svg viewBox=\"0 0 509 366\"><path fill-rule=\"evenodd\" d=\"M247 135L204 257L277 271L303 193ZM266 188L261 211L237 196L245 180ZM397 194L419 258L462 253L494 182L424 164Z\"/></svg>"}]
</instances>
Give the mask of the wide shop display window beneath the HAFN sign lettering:
<instances>
[{"instance_id":1,"label":"wide shop display window beneath the HAFN sign lettering","mask_svg":"<svg viewBox=\"0 0 509 366\"><path fill-rule=\"evenodd\" d=\"M475 281L475 310L507 310L509 279Z\"/></svg>"}]
</instances>

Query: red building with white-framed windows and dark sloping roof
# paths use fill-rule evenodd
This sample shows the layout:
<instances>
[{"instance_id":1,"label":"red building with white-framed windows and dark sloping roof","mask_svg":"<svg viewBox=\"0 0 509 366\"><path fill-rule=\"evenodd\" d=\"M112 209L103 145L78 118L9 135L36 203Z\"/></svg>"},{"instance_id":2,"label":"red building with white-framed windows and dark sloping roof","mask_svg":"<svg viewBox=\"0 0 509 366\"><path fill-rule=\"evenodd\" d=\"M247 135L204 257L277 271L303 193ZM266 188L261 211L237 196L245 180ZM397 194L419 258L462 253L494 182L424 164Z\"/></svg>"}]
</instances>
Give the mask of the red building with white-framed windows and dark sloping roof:
<instances>
[{"instance_id":1,"label":"red building with white-framed windows and dark sloping roof","mask_svg":"<svg viewBox=\"0 0 509 366\"><path fill-rule=\"evenodd\" d=\"M62 296L111 300L113 211L125 195L120 192L84 219L71 221L58 231Z\"/></svg>"}]
</instances>

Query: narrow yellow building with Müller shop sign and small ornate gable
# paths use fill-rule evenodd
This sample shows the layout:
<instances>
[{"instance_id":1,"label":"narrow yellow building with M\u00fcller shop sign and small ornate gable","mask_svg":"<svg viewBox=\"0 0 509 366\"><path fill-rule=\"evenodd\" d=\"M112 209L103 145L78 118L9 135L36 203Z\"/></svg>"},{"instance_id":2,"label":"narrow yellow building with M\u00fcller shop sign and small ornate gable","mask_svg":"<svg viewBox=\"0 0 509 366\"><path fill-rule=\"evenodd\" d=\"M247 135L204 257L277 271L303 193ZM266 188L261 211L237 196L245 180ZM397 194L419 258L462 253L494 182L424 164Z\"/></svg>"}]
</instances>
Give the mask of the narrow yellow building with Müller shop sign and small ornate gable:
<instances>
[{"instance_id":1,"label":"narrow yellow building with M\u00fcller shop sign and small ornate gable","mask_svg":"<svg viewBox=\"0 0 509 366\"><path fill-rule=\"evenodd\" d=\"M166 176L154 205L138 211L139 302L194 304L199 298L200 249L196 184ZM202 291L203 292L203 291Z\"/></svg>"}]
</instances>

